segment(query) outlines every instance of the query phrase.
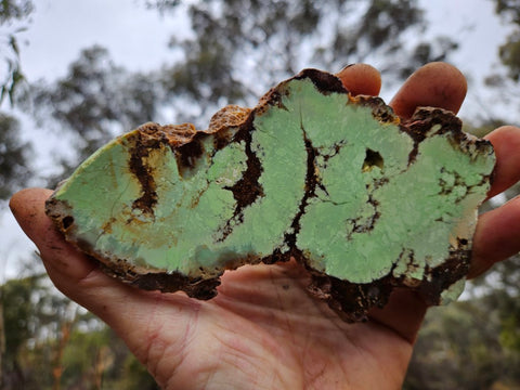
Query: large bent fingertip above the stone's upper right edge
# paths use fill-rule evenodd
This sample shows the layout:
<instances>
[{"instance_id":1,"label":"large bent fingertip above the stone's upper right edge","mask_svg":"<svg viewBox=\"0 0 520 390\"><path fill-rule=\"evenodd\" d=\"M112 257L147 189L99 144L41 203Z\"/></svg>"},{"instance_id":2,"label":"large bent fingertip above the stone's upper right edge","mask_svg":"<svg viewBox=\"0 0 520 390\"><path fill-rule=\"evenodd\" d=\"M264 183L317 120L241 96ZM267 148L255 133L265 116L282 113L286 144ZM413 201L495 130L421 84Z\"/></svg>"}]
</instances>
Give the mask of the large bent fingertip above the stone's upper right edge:
<instances>
[{"instance_id":1,"label":"large bent fingertip above the stone's upper right edge","mask_svg":"<svg viewBox=\"0 0 520 390\"><path fill-rule=\"evenodd\" d=\"M439 107L458 113L468 84L464 75L446 63L430 63L416 70L390 102L395 114L410 118L417 107Z\"/></svg>"}]
</instances>

